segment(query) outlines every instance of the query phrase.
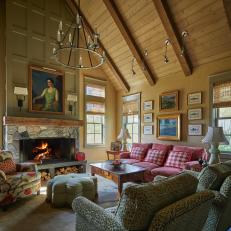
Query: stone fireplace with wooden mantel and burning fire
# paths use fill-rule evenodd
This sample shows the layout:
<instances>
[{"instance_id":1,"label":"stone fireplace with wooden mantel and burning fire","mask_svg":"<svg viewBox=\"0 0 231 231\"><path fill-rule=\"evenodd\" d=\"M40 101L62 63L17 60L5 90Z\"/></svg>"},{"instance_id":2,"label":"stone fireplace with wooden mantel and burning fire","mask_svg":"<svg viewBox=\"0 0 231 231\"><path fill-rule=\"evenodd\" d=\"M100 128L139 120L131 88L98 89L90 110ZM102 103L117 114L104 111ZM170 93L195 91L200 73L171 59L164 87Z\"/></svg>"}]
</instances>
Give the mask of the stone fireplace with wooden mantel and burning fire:
<instances>
[{"instance_id":1,"label":"stone fireplace with wooden mantel and burning fire","mask_svg":"<svg viewBox=\"0 0 231 231\"><path fill-rule=\"evenodd\" d=\"M12 151L16 162L30 161L37 155L40 164L71 161L79 149L82 124L80 120L4 117L4 149Z\"/></svg>"}]
</instances>

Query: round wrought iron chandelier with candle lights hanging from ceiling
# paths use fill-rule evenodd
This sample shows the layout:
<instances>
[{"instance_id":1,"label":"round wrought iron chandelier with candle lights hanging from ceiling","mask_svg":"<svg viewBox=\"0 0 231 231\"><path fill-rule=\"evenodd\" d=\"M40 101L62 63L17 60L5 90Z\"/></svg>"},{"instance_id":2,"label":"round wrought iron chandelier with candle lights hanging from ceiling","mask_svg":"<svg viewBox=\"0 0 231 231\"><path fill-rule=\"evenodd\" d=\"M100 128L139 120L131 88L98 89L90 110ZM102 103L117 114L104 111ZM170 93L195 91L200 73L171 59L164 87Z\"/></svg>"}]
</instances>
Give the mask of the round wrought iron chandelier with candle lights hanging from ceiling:
<instances>
[{"instance_id":1,"label":"round wrought iron chandelier with candle lights hanging from ceiling","mask_svg":"<svg viewBox=\"0 0 231 231\"><path fill-rule=\"evenodd\" d=\"M105 52L99 45L99 33L91 33L80 14L80 1L77 15L66 32L60 21L57 31L53 58L59 64L72 69L92 69L105 62Z\"/></svg>"}]
</instances>

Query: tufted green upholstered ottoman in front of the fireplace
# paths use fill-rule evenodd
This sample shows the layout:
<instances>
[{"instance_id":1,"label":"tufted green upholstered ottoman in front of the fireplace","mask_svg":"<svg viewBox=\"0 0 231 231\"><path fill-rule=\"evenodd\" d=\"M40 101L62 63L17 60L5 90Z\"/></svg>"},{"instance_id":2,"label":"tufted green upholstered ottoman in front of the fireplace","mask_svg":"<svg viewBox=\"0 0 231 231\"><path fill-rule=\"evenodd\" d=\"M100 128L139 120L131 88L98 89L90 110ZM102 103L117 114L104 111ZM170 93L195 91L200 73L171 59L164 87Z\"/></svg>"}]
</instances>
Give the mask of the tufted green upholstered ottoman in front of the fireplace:
<instances>
[{"instance_id":1,"label":"tufted green upholstered ottoman in front of the fireplace","mask_svg":"<svg viewBox=\"0 0 231 231\"><path fill-rule=\"evenodd\" d=\"M54 207L71 207L72 201L84 196L94 201L97 196L97 178L88 174L55 176L47 183L47 202Z\"/></svg>"}]
</instances>

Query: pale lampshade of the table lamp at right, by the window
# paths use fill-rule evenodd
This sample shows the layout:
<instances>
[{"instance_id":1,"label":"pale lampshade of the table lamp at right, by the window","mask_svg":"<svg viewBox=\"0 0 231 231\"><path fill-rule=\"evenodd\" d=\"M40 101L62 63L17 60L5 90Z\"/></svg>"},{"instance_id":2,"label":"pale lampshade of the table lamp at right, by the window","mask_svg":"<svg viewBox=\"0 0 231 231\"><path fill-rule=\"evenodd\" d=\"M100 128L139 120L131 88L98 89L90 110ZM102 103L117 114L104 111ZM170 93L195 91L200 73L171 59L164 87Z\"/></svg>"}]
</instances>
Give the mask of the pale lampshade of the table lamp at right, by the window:
<instances>
[{"instance_id":1,"label":"pale lampshade of the table lamp at right, by the window","mask_svg":"<svg viewBox=\"0 0 231 231\"><path fill-rule=\"evenodd\" d=\"M208 132L202 143L206 144L229 144L222 127L208 127Z\"/></svg>"}]
</instances>

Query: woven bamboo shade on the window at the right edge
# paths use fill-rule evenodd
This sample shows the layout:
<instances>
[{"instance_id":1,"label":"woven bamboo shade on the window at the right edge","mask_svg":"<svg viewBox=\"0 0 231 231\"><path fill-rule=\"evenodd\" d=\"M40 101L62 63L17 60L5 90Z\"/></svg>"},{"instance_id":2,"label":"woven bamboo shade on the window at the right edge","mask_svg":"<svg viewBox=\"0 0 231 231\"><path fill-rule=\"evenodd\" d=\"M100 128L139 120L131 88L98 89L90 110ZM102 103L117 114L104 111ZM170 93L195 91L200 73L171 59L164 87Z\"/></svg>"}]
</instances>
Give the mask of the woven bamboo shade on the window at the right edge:
<instances>
[{"instance_id":1,"label":"woven bamboo shade on the window at the right edge","mask_svg":"<svg viewBox=\"0 0 231 231\"><path fill-rule=\"evenodd\" d=\"M231 106L231 80L213 85L213 107Z\"/></svg>"}]
</instances>

